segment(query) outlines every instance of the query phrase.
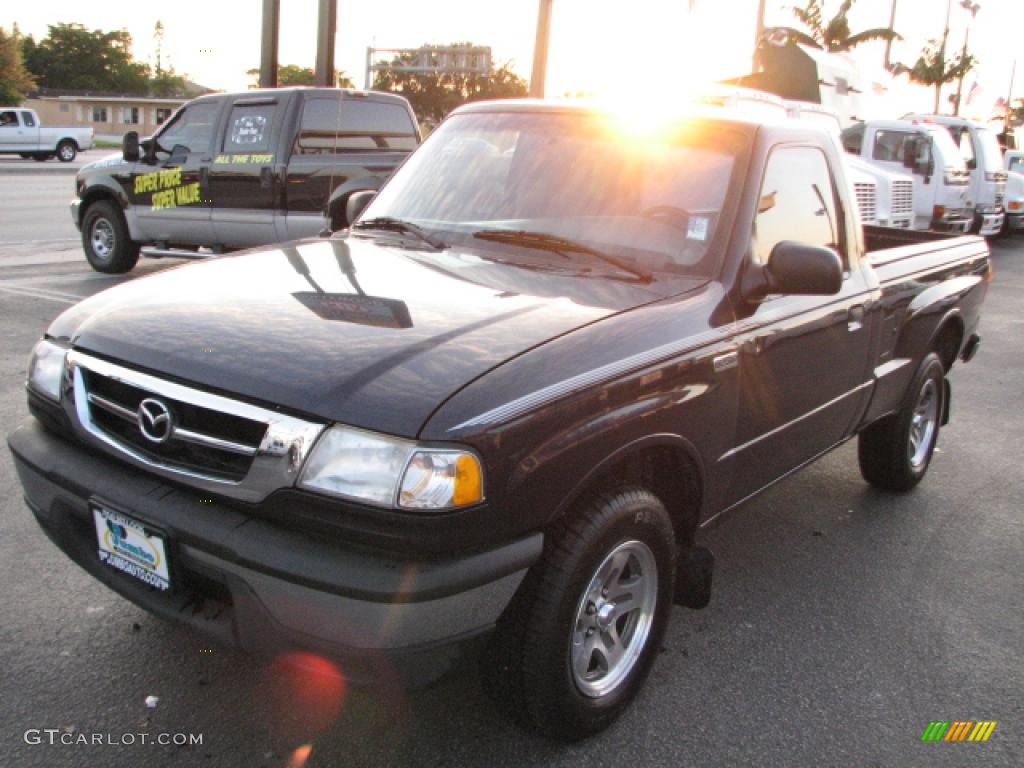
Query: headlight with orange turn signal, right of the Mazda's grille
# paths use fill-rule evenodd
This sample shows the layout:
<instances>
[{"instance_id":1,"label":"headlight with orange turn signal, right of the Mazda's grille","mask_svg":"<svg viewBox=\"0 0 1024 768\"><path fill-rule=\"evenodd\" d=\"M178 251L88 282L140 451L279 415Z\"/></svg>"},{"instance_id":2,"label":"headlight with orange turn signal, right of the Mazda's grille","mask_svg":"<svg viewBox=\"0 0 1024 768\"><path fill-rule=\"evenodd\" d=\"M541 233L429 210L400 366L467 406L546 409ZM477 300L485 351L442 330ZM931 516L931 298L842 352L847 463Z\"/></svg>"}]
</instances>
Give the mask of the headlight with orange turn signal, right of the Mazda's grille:
<instances>
[{"instance_id":1,"label":"headlight with orange turn signal, right of the Mazda's grille","mask_svg":"<svg viewBox=\"0 0 1024 768\"><path fill-rule=\"evenodd\" d=\"M301 487L403 509L451 509L483 499L477 458L352 427L329 429L306 462Z\"/></svg>"}]
</instances>

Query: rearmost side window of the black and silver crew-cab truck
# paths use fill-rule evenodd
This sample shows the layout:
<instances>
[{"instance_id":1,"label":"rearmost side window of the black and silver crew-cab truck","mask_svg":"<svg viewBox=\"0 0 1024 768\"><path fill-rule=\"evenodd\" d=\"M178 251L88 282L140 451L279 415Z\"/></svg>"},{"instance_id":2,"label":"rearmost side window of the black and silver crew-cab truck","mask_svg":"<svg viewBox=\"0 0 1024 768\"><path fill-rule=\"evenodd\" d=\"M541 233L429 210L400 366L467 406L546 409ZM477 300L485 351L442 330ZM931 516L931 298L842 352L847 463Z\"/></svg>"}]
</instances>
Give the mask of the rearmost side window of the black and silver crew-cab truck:
<instances>
[{"instance_id":1,"label":"rearmost side window of the black and silver crew-cab truck","mask_svg":"<svg viewBox=\"0 0 1024 768\"><path fill-rule=\"evenodd\" d=\"M302 108L296 155L416 148L416 127L399 104L359 98L310 98Z\"/></svg>"}]
</instances>

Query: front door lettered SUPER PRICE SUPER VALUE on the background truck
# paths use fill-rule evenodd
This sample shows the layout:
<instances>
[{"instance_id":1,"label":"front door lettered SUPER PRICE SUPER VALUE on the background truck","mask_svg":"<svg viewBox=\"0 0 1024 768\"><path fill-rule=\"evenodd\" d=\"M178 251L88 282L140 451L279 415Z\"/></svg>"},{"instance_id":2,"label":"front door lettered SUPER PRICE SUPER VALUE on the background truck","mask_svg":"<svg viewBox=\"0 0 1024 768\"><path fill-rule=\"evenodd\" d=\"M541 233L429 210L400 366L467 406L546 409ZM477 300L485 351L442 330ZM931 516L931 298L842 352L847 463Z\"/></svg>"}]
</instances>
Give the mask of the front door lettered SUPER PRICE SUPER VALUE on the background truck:
<instances>
[{"instance_id":1,"label":"front door lettered SUPER PRICE SUPER VALUE on the background truck","mask_svg":"<svg viewBox=\"0 0 1024 768\"><path fill-rule=\"evenodd\" d=\"M154 137L155 163L138 163L129 199L143 240L213 245L208 173L222 98L186 104Z\"/></svg>"}]
</instances>

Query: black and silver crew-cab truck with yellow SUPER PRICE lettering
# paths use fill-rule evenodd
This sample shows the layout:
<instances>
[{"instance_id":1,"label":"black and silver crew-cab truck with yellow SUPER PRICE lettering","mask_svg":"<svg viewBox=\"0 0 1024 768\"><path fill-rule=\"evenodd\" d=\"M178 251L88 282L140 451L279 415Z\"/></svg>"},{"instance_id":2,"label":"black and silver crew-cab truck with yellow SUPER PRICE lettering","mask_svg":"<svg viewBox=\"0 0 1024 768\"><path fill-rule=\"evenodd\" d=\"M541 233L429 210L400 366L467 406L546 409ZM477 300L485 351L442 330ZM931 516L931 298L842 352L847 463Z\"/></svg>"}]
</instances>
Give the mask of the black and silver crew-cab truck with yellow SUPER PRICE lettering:
<instances>
[{"instance_id":1,"label":"black and silver crew-cab truck with yellow SUPER PRICE lettering","mask_svg":"<svg viewBox=\"0 0 1024 768\"><path fill-rule=\"evenodd\" d=\"M72 218L101 272L313 237L345 223L353 189L379 188L420 142L401 96L336 88L219 93L151 138L82 168Z\"/></svg>"}]
</instances>

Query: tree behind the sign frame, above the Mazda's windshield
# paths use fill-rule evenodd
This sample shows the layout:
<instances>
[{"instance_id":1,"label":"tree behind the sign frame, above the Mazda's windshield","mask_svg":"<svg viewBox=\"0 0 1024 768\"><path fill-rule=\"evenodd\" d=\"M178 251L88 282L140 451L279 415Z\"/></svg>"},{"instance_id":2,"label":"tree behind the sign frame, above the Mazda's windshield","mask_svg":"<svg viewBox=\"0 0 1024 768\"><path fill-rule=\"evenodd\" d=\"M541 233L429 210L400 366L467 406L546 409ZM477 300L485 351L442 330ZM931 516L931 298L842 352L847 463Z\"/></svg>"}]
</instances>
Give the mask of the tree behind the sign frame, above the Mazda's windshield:
<instances>
[{"instance_id":1,"label":"tree behind the sign frame, above the Mazda's windshield","mask_svg":"<svg viewBox=\"0 0 1024 768\"><path fill-rule=\"evenodd\" d=\"M424 47L476 47L472 43ZM415 51L399 53L392 65L410 66L416 62ZM487 74L442 72L395 72L379 70L374 79L374 89L399 93L409 99L421 121L436 123L452 110L469 101L492 98L517 98L525 96L526 81L505 63Z\"/></svg>"}]
</instances>

